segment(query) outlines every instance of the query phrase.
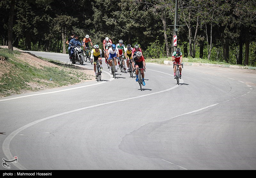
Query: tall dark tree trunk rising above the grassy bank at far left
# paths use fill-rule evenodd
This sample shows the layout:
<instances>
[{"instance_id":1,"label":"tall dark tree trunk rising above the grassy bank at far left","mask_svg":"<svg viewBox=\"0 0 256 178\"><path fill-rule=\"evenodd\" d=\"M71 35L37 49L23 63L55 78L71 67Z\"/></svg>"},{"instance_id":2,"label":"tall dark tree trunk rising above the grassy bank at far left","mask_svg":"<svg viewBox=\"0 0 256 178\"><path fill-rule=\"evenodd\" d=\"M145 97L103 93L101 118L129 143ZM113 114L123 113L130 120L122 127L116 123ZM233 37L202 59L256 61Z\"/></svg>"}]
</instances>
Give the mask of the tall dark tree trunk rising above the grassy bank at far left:
<instances>
[{"instance_id":1,"label":"tall dark tree trunk rising above the grassy bank at far left","mask_svg":"<svg viewBox=\"0 0 256 178\"><path fill-rule=\"evenodd\" d=\"M9 12L9 21L8 21L8 50L9 51L13 51L13 46L12 46L12 27L13 27L14 7L15 7L15 0L12 0L11 1L10 12Z\"/></svg>"}]
</instances>

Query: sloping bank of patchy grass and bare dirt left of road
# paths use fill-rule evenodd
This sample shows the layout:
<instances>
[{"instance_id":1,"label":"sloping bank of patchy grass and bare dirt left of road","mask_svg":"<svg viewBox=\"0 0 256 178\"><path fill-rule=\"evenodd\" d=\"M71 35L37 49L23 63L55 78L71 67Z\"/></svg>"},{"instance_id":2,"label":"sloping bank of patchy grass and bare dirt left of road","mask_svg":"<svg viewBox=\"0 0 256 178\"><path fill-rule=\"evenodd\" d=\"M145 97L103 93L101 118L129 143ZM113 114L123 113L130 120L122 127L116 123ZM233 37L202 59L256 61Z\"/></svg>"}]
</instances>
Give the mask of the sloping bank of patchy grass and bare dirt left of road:
<instances>
[{"instance_id":1,"label":"sloping bank of patchy grass and bare dirt left of road","mask_svg":"<svg viewBox=\"0 0 256 178\"><path fill-rule=\"evenodd\" d=\"M0 97L91 80L75 65L42 58L54 65L38 68L19 59L20 56L22 53L18 51L9 53L7 49L0 49Z\"/></svg>"}]
</instances>

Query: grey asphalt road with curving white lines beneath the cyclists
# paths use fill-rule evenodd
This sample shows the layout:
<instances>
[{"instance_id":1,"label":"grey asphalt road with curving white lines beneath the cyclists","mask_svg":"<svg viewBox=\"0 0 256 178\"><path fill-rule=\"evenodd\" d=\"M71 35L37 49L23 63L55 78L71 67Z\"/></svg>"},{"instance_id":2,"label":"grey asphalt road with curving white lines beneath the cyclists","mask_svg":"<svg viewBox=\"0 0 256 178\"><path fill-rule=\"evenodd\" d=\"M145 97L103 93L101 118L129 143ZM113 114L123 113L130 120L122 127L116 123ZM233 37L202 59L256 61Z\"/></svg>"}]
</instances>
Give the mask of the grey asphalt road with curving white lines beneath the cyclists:
<instances>
[{"instance_id":1,"label":"grey asphalt road with curving white lines beneath the cyclists","mask_svg":"<svg viewBox=\"0 0 256 178\"><path fill-rule=\"evenodd\" d=\"M256 169L255 70L184 66L177 85L172 66L146 67L142 91L104 63L102 81L0 98L1 159L18 157L11 170Z\"/></svg>"}]
</instances>

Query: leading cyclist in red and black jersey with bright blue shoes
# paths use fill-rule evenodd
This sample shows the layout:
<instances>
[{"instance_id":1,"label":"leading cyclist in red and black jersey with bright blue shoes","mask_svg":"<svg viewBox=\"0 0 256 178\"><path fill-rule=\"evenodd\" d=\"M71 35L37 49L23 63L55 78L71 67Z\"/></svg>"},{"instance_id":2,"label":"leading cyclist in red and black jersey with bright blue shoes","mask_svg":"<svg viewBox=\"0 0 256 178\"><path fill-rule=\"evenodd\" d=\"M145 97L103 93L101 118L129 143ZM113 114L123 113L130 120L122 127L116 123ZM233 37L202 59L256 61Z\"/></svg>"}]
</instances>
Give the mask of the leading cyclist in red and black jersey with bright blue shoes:
<instances>
[{"instance_id":1,"label":"leading cyclist in red and black jersey with bright blue shoes","mask_svg":"<svg viewBox=\"0 0 256 178\"><path fill-rule=\"evenodd\" d=\"M138 51L136 53L136 55L132 58L132 69L133 70L134 70L134 68L144 68L145 69L145 66L146 66L145 59L142 56L142 53L140 51ZM144 81L144 76L145 76L144 69L140 69L143 86L146 85L145 81ZM136 70L135 73L136 73L136 81L139 81L139 78L138 78L139 71Z\"/></svg>"}]
</instances>

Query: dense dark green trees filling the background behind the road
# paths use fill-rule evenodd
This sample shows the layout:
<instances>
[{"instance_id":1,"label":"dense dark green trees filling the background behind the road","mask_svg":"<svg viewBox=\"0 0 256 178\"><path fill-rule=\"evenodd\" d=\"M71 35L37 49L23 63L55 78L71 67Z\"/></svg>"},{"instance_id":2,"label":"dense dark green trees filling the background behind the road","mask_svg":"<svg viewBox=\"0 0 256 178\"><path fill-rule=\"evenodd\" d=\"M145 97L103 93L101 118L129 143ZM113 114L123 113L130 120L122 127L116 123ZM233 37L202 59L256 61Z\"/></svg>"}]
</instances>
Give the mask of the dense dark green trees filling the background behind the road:
<instances>
[{"instance_id":1,"label":"dense dark green trees filling the background behind the road","mask_svg":"<svg viewBox=\"0 0 256 178\"><path fill-rule=\"evenodd\" d=\"M108 36L114 43L140 44L148 58L169 57L174 11L175 0L2 0L0 45L8 45L9 31L20 49L67 53L74 31L101 48ZM184 56L256 65L255 0L178 0L178 24Z\"/></svg>"}]
</instances>

